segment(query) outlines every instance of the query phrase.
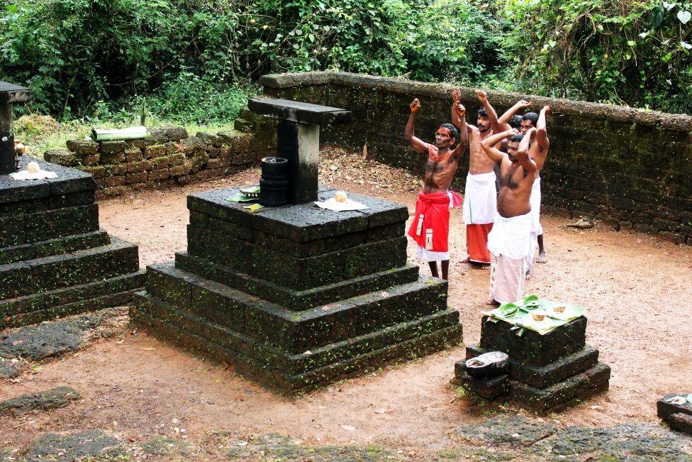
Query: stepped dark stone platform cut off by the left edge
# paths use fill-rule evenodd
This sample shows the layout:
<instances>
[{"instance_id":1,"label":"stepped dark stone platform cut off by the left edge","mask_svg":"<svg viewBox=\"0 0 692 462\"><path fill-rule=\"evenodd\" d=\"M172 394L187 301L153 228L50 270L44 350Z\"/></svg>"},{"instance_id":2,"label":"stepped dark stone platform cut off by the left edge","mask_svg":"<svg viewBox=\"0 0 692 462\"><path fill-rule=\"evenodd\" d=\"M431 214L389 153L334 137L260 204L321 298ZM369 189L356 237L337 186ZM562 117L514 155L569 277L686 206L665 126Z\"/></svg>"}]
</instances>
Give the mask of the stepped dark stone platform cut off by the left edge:
<instances>
[{"instance_id":1,"label":"stepped dark stone platform cut off by the left edge","mask_svg":"<svg viewBox=\"0 0 692 462\"><path fill-rule=\"evenodd\" d=\"M0 329L127 304L144 284L137 246L99 229L88 173L22 156L57 173L0 175Z\"/></svg>"}]
</instances>

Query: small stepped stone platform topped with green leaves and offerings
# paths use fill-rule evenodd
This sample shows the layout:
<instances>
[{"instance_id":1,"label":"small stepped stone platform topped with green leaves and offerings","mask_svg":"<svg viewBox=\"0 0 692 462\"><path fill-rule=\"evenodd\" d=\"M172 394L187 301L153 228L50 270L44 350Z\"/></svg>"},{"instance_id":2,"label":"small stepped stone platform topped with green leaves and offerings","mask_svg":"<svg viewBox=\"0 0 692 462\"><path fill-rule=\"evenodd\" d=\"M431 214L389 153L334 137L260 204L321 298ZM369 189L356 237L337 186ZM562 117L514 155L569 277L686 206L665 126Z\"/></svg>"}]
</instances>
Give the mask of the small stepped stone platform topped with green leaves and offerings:
<instances>
[{"instance_id":1,"label":"small stepped stone platform topped with green leaves and offerings","mask_svg":"<svg viewBox=\"0 0 692 462\"><path fill-rule=\"evenodd\" d=\"M454 374L467 390L489 399L506 395L540 413L608 390L610 366L599 362L598 350L586 344L586 317L545 335L527 329L518 336L517 331L510 330L511 324L489 321L489 317L481 322L481 341L467 346L466 359L503 351L510 357L510 368L508 377L483 381L467 375L464 361L458 361Z\"/></svg>"}]
</instances>

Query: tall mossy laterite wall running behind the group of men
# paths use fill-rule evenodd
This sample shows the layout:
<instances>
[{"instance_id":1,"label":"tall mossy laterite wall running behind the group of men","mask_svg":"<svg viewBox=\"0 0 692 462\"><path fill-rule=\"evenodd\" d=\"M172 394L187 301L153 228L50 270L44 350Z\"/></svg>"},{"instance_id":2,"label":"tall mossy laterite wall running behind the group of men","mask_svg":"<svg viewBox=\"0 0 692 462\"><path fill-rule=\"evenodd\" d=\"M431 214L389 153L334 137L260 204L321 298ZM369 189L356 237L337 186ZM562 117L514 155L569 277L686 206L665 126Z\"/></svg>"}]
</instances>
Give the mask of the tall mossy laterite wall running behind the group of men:
<instances>
[{"instance_id":1,"label":"tall mossy laterite wall running behind the group of men","mask_svg":"<svg viewBox=\"0 0 692 462\"><path fill-rule=\"evenodd\" d=\"M260 83L270 97L349 109L352 123L323 128L323 143L353 149L367 144L377 160L419 175L425 158L403 138L408 104L420 99L416 134L425 140L431 141L437 126L450 120L449 84L340 72L265 75ZM475 123L479 104L474 89L461 91L467 120ZM488 97L498 114L522 98L534 101L535 111L551 106L550 153L541 175L548 207L692 245L691 116L494 91ZM259 148L274 148L267 121L254 122ZM463 188L466 172L464 162L456 189Z\"/></svg>"}]
</instances>

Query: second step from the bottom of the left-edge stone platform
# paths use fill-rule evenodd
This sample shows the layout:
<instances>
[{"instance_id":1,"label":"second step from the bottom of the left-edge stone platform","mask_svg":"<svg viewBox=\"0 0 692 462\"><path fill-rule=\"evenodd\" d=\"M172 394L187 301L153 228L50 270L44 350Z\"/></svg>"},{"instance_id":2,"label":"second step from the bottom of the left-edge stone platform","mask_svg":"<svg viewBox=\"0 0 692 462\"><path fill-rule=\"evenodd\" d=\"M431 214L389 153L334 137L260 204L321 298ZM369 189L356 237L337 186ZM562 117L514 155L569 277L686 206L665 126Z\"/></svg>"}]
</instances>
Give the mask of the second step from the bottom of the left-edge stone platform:
<instances>
[{"instance_id":1,"label":"second step from the bottom of the left-edge stone platform","mask_svg":"<svg viewBox=\"0 0 692 462\"><path fill-rule=\"evenodd\" d=\"M0 265L0 299L48 292L138 270L137 246L113 237L105 246Z\"/></svg>"}]
</instances>

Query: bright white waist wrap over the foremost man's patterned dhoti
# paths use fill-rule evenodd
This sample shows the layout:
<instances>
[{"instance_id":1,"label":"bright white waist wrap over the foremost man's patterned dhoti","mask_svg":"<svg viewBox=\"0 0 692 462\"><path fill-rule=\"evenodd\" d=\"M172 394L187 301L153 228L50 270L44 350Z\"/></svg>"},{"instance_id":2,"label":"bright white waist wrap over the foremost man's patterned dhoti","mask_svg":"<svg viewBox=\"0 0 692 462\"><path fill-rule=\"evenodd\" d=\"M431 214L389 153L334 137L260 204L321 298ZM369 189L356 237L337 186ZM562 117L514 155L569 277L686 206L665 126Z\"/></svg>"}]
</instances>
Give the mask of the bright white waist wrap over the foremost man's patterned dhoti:
<instances>
[{"instance_id":1,"label":"bright white waist wrap over the foremost man's patterned dhoti","mask_svg":"<svg viewBox=\"0 0 692 462\"><path fill-rule=\"evenodd\" d=\"M529 254L532 214L505 218L497 214L488 235L488 250L493 255L520 260Z\"/></svg>"}]
</instances>

